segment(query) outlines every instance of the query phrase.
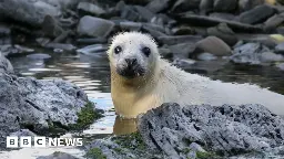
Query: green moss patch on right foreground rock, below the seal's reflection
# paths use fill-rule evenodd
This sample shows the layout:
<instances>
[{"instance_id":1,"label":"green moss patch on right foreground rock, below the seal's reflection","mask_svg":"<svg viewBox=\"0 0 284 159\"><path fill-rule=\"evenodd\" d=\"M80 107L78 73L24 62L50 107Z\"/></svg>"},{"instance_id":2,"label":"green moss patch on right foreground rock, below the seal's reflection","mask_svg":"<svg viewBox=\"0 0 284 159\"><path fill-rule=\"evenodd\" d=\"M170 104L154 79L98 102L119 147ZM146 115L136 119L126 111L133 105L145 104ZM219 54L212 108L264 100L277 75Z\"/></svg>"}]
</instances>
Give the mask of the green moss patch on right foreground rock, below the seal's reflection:
<instances>
[{"instance_id":1,"label":"green moss patch on right foreground rock, below the seal's reflection","mask_svg":"<svg viewBox=\"0 0 284 159\"><path fill-rule=\"evenodd\" d=\"M126 149L144 150L146 148L146 145L144 144L140 132L118 136L118 137L114 137L113 140L118 145L120 145L122 148L126 148Z\"/></svg>"}]
</instances>

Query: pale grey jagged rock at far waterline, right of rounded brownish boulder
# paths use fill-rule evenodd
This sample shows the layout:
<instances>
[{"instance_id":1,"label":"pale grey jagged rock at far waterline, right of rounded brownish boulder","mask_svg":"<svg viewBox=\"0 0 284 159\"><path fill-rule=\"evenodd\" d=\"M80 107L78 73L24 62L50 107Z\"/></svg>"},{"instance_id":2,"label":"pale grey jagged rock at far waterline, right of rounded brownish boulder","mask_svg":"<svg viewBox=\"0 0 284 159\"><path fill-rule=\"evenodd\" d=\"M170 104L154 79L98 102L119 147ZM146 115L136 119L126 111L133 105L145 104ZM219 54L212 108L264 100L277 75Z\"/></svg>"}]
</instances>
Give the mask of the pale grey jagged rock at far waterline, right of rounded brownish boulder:
<instances>
[{"instance_id":1,"label":"pale grey jagged rock at far waterline, right of rounded brownish boulder","mask_svg":"<svg viewBox=\"0 0 284 159\"><path fill-rule=\"evenodd\" d=\"M270 49L260 43L246 43L236 46L230 60L234 63L261 64L261 55L265 52L270 52Z\"/></svg>"}]
</instances>

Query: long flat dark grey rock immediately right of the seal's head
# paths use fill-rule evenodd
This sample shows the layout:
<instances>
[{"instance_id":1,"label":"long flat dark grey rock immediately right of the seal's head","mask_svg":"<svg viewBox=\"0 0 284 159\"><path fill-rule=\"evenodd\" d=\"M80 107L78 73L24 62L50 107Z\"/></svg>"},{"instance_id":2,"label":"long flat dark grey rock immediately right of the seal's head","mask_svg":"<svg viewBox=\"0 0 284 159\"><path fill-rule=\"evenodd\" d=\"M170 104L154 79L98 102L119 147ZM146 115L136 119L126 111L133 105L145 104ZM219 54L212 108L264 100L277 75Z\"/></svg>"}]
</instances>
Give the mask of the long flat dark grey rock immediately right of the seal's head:
<instances>
[{"instance_id":1,"label":"long flat dark grey rock immediately right of the seal's head","mask_svg":"<svg viewBox=\"0 0 284 159\"><path fill-rule=\"evenodd\" d=\"M159 41L163 44L174 45L182 42L192 42L195 43L202 40L200 35L178 35L178 36L160 36Z\"/></svg>"}]
</instances>

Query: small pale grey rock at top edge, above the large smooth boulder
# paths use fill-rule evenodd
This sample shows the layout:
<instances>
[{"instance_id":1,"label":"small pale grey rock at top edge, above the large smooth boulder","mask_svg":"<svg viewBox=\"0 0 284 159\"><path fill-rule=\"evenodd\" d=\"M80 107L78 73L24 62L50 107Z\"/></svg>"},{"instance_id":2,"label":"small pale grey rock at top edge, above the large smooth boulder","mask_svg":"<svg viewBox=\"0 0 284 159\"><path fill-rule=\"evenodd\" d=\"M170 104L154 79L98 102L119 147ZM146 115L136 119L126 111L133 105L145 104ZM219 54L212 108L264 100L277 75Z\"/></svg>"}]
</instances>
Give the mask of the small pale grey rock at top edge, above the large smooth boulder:
<instances>
[{"instance_id":1,"label":"small pale grey rock at top edge, above the large smooth boulder","mask_svg":"<svg viewBox=\"0 0 284 159\"><path fill-rule=\"evenodd\" d=\"M97 17L100 17L105 13L104 9L90 2L80 2L77 9L81 12L91 13Z\"/></svg>"}]
</instances>

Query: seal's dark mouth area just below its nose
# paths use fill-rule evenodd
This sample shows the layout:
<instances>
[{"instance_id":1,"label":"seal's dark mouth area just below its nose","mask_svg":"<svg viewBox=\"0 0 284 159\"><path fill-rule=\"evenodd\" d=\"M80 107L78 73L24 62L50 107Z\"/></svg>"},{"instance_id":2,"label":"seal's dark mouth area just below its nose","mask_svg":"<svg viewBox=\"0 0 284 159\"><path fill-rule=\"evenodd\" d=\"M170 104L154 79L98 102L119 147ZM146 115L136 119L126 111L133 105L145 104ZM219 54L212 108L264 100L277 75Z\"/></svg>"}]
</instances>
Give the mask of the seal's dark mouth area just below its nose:
<instances>
[{"instance_id":1,"label":"seal's dark mouth area just below its nose","mask_svg":"<svg viewBox=\"0 0 284 159\"><path fill-rule=\"evenodd\" d=\"M141 66L126 66L124 68L116 68L119 75L126 78L134 78L139 76L143 76L145 74L145 70Z\"/></svg>"}]
</instances>

